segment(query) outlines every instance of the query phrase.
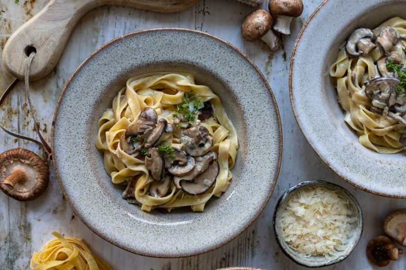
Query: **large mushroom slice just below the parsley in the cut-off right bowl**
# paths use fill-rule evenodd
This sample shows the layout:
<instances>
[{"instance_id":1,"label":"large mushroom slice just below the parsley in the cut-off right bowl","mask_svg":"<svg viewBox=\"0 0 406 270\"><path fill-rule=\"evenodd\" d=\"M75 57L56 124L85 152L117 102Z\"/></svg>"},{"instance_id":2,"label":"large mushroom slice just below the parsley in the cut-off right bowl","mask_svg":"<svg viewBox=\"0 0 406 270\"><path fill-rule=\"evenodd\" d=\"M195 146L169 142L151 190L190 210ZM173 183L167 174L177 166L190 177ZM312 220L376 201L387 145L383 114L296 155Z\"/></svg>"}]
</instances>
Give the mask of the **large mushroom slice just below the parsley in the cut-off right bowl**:
<instances>
[{"instance_id":1,"label":"large mushroom slice just below the parsley in the cut-off right bowl","mask_svg":"<svg viewBox=\"0 0 406 270\"><path fill-rule=\"evenodd\" d=\"M372 100L372 105L384 109L393 86L400 81L394 77L379 77L371 79L365 85L365 94Z\"/></svg>"}]
</instances>

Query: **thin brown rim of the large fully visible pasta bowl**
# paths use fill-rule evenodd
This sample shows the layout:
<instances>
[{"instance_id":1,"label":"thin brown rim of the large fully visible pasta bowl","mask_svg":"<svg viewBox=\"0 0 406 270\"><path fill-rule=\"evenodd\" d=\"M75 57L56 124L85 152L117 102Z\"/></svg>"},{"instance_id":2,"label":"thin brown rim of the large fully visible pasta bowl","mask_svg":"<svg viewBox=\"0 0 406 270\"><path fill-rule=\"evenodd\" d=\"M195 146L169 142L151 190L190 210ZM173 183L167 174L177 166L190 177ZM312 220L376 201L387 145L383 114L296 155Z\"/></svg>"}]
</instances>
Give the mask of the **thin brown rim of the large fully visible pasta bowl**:
<instances>
[{"instance_id":1,"label":"thin brown rim of the large fully visible pasta bowl","mask_svg":"<svg viewBox=\"0 0 406 270\"><path fill-rule=\"evenodd\" d=\"M229 239L227 239L226 241L220 242L219 244L213 245L210 248L207 248L205 250L201 250L199 252L194 252L194 253L189 253L189 254L182 254L182 255L177 255L177 254L169 254L169 255L155 255L155 254L150 254L150 253L145 253L145 252L141 252L141 251L134 251L131 250L128 247L124 247L119 245L118 243L114 243L113 241L110 241L109 239L107 239L107 237L105 237L103 234L101 234L100 232L97 232L95 229L93 229L88 222L86 222L81 215L77 212L77 210L73 207L73 204L71 202L71 200L69 199L68 196L66 196L65 194L65 190L62 187L62 182L61 179L59 177L59 173L57 170L57 166L56 166L56 162L55 159L52 159L52 165L53 168L55 170L55 176L58 180L59 186L62 190L62 194L64 196L64 198L66 199L66 201L69 203L71 209L73 210L74 214L79 217L79 219L86 225L86 227L88 227L95 235L97 235L98 237L100 237L101 239L113 244L116 247L119 247L125 251L134 253L134 254L138 254L138 255L142 255L142 256L147 256L147 257L155 257L155 258L182 258L182 257L190 257L190 256L197 256L200 254L204 254L207 253L209 251L213 251L215 249L218 249L228 243L230 243L232 240L234 240L236 237L238 237L239 235L241 235L257 218L258 216L263 212L263 210L265 209L266 205L269 202L270 197L272 196L275 186L276 186L276 182L278 181L278 177L279 177L279 172L281 169L281 163L282 163L282 149L283 149L283 133L282 133L282 123L281 123L281 117L280 117L280 112L279 112L279 108L278 108L278 103L275 99L275 95L272 91L272 89L269 86L269 83L267 82L267 80L265 79L264 75L262 74L262 72L260 71L260 69L255 65L255 63L248 58L248 56L246 56L241 50L239 50L238 48L236 48L235 46L233 46L231 43L223 40L223 38L220 38L216 35L207 33L207 32L202 32L202 31L198 31L198 30L193 30L193 29L187 29L187 28L181 28L181 27L161 27L161 28L148 28L148 29L142 29L142 30L137 30L137 31L133 31L133 32L129 32L123 35L120 35L118 37L113 38L113 40L101 45L99 48L97 48L94 52L92 52L88 57L86 57L83 62L75 69L75 71L72 73L72 75L70 76L69 80L66 81L65 85L63 86L63 89L58 97L58 101L56 103L56 107L55 107L55 111L54 111L54 116L53 116L53 121L52 121L52 130L51 130L51 149L52 149L52 153L54 152L54 129L55 129L55 123L56 123L56 117L59 111L59 105L62 101L62 97L65 93L65 90L67 89L67 87L69 86L70 82L75 78L76 74L82 69L83 66L85 66L89 60L96 55L98 52L100 52L101 50L103 50L106 47L109 47L111 44L121 40L122 38L125 37L129 37L132 35L137 35L140 33L146 33L146 32L155 32L155 31L184 31L184 32L192 32L194 34L200 34L200 35L205 35L207 37L213 38L214 40L217 40L221 43L223 43L224 45L230 47L231 49L233 49L236 53L238 53L239 55L241 55L245 61L247 61L259 74L261 80L265 83L266 88L268 89L268 92L270 94L270 98L272 100L272 102L275 104L275 113L276 113L276 118L277 118L277 122L278 122L278 138L279 138L279 151L278 151L278 162L277 162L277 168L275 171L275 177L273 180L273 185L270 188L266 199L263 201L261 208L259 209L259 211L257 211L257 213L255 213L255 215L252 216L252 218L250 220L247 220L244 227L237 232L235 235L233 235L232 237L230 237Z\"/></svg>"}]
</instances>

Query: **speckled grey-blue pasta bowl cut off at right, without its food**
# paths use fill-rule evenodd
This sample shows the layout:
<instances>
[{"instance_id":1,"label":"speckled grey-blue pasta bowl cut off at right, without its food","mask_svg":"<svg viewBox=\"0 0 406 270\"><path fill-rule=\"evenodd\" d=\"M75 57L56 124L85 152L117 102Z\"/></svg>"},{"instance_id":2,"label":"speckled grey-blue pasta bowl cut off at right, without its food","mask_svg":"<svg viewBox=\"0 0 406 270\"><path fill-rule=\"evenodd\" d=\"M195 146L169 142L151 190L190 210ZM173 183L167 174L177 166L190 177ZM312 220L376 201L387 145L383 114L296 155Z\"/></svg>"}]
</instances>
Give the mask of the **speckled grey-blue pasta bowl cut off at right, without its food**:
<instances>
[{"instance_id":1,"label":"speckled grey-blue pasta bowl cut off at right, without its food","mask_svg":"<svg viewBox=\"0 0 406 270\"><path fill-rule=\"evenodd\" d=\"M297 38L289 87L297 123L327 166L362 190L406 198L405 153L382 155L359 143L358 135L344 122L345 114L328 73L339 47L354 29L375 28L394 16L406 18L406 2L323 2Z\"/></svg>"}]
</instances>

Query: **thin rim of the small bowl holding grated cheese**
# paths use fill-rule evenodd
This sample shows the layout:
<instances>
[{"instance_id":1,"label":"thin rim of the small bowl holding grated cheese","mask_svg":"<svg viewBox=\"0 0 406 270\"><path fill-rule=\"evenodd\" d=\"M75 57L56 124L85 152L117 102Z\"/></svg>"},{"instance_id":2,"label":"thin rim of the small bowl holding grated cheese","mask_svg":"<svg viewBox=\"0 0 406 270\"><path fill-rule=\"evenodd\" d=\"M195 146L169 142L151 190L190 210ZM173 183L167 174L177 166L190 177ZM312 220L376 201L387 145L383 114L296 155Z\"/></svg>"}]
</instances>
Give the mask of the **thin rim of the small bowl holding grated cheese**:
<instances>
[{"instance_id":1,"label":"thin rim of the small bowl holding grated cheese","mask_svg":"<svg viewBox=\"0 0 406 270\"><path fill-rule=\"evenodd\" d=\"M278 235L277 230L276 230L276 216L277 216L277 213L280 211L281 204L286 201L287 197L290 194L292 194L293 191L295 191L296 189L299 189L303 186L308 186L308 185L329 186L329 187L336 188L336 189L342 191L346 196L348 196L348 198L355 204L355 207L358 210L358 225L360 227L360 229L358 229L358 230L360 230L360 233L359 233L359 236L357 237L357 239L355 239L355 245L350 249L350 252L348 254L346 254L345 256L337 257L337 259L331 260L330 262L324 262L324 263L320 263L320 264L307 264L306 262L299 260L298 258L294 257L290 252L288 252L285 248L283 248L283 245L282 245L283 240ZM341 185L332 183L332 182L324 181L324 180L306 180L306 181L300 182L298 184L295 184L294 186L288 188L285 192L283 192L282 196L278 199L278 202L276 203L276 206L275 206L274 215L272 217L272 226L274 228L275 239L276 239L279 247L281 248L282 252L285 253L285 255L288 258L290 258L292 261L294 261L295 263L297 263L301 266L306 266L309 268L317 268L317 267L324 267L324 266L329 266L329 265L333 265L333 264L342 262L343 260L347 259L348 256L350 256L350 254L354 251L355 247L358 245L359 241L361 240L362 233L364 230L364 219L363 219L361 206L359 205L359 203L358 203L357 199L354 197L354 195L352 195L351 192L347 188L345 188Z\"/></svg>"}]
</instances>

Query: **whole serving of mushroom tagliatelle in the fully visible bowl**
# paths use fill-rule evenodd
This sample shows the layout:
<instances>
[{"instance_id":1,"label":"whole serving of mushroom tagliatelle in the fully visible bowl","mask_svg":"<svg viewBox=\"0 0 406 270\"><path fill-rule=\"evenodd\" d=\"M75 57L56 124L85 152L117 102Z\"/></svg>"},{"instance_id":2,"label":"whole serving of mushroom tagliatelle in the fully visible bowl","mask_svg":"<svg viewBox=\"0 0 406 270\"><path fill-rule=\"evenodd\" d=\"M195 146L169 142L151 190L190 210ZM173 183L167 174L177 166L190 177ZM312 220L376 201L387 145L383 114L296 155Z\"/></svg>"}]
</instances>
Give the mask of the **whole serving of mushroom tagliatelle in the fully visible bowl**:
<instances>
[{"instance_id":1,"label":"whole serving of mushroom tagliatelle in the fully visible bowl","mask_svg":"<svg viewBox=\"0 0 406 270\"><path fill-rule=\"evenodd\" d=\"M230 180L238 149L220 98L188 73L130 78L98 121L103 151L122 198L142 210L190 206L203 211Z\"/></svg>"}]
</instances>

